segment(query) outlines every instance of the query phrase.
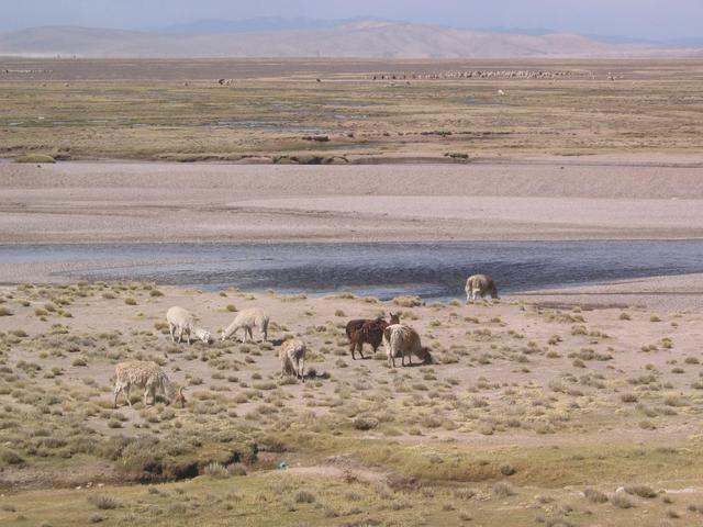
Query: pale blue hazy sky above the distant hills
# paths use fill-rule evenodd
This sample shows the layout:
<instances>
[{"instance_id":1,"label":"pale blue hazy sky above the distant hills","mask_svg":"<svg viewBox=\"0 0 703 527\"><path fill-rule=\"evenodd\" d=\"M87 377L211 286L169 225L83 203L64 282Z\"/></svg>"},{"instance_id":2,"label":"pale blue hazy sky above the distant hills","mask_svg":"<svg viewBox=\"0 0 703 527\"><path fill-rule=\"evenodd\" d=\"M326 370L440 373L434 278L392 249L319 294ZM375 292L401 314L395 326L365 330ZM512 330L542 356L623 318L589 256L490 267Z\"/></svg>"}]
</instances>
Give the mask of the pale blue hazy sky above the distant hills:
<instances>
[{"instance_id":1,"label":"pale blue hazy sky above the distant hills","mask_svg":"<svg viewBox=\"0 0 703 527\"><path fill-rule=\"evenodd\" d=\"M703 0L0 0L0 27L144 29L199 19L379 16L462 27L703 37Z\"/></svg>"}]
</instances>

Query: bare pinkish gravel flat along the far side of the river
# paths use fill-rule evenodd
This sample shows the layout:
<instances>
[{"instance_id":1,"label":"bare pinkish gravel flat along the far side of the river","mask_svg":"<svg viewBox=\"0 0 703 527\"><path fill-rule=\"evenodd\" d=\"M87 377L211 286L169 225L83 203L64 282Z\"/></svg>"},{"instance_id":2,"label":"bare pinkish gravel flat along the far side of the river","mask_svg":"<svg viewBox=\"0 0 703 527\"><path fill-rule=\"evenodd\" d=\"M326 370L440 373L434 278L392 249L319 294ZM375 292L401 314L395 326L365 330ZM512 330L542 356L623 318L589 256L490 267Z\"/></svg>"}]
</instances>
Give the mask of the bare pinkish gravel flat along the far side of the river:
<instances>
[{"instance_id":1,"label":"bare pinkish gravel flat along the far side of the river","mask_svg":"<svg viewBox=\"0 0 703 527\"><path fill-rule=\"evenodd\" d=\"M0 164L0 243L703 237L703 156Z\"/></svg>"}]
</instances>

